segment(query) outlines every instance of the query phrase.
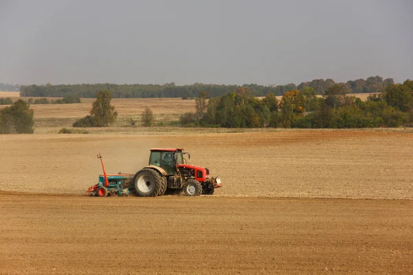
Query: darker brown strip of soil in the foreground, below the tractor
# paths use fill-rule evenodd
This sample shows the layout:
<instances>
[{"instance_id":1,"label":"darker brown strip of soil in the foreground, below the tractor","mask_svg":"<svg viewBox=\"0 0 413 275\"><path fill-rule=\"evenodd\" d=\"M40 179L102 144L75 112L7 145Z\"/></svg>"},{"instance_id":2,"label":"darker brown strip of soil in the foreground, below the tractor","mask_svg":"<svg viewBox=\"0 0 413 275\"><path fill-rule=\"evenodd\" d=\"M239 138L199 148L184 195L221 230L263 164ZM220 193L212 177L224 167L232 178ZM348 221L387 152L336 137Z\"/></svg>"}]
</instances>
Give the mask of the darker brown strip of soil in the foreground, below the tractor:
<instances>
[{"instance_id":1,"label":"darker brown strip of soil in the foreground, below the tractor","mask_svg":"<svg viewBox=\"0 0 413 275\"><path fill-rule=\"evenodd\" d=\"M1 274L411 274L412 201L1 195Z\"/></svg>"}]
</instances>

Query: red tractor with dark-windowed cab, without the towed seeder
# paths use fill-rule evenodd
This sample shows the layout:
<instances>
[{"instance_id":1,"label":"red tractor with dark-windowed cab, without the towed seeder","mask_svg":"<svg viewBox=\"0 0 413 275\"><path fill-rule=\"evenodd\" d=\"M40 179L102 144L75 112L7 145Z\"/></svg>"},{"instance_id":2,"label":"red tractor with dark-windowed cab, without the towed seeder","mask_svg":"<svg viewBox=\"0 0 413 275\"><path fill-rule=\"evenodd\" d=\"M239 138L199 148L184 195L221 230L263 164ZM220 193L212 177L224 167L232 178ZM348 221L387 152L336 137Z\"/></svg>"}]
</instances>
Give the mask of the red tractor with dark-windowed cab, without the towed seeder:
<instances>
[{"instance_id":1,"label":"red tractor with dark-windowed cab, without the towed seeder","mask_svg":"<svg viewBox=\"0 0 413 275\"><path fill-rule=\"evenodd\" d=\"M149 165L139 170L133 184L140 197L161 196L167 189L184 190L187 196L212 195L222 187L220 178L211 177L209 170L187 164L182 148L153 148Z\"/></svg>"}]
</instances>

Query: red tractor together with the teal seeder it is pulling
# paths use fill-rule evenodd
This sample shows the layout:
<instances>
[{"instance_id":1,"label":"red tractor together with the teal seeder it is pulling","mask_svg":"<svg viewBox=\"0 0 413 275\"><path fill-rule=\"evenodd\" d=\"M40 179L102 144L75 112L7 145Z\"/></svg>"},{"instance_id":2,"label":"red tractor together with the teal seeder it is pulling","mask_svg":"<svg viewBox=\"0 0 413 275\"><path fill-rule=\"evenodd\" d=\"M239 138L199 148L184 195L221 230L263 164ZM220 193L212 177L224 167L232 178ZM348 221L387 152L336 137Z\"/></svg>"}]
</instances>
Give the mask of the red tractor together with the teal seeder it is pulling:
<instances>
[{"instance_id":1,"label":"red tractor together with the teal seeder it is pulling","mask_svg":"<svg viewBox=\"0 0 413 275\"><path fill-rule=\"evenodd\" d=\"M187 196L213 195L215 188L222 187L219 177L211 177L209 169L187 164L191 158L182 148L153 148L149 156L149 165L136 174L107 174L102 155L98 155L102 164L103 175L99 175L98 184L91 186L87 194L92 197L129 195L135 192L139 197L164 195L167 190Z\"/></svg>"}]
</instances>

